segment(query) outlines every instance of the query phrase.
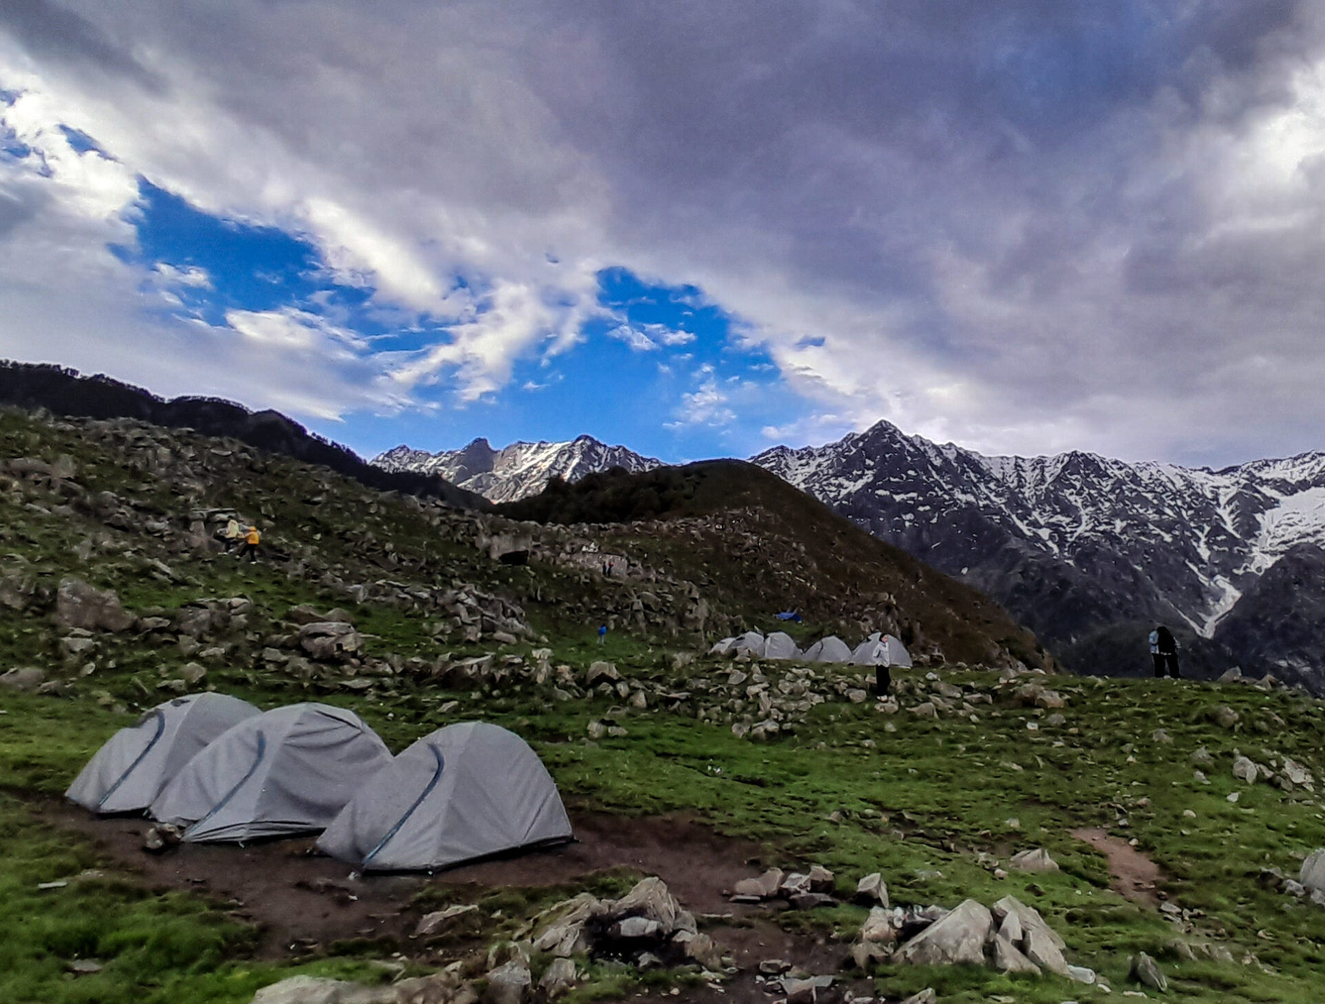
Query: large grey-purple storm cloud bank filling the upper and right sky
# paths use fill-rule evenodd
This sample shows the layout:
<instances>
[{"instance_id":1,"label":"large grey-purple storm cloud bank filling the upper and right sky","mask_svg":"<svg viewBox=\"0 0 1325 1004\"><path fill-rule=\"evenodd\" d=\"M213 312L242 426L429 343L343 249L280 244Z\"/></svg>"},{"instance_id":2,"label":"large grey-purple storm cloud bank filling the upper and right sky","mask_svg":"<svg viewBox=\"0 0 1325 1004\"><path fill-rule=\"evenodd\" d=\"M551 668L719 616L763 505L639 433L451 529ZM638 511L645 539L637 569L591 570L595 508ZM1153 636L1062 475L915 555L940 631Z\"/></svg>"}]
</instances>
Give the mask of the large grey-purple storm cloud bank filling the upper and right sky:
<instances>
[{"instance_id":1,"label":"large grey-purple storm cloud bank filling the upper and right sky","mask_svg":"<svg viewBox=\"0 0 1325 1004\"><path fill-rule=\"evenodd\" d=\"M624 265L704 289L855 424L1322 445L1312 3L11 0L5 26L56 90L82 62L142 93L150 142L77 123L132 170L326 246L362 223L355 266L421 303L428 273L523 289L555 256L584 295ZM224 127L172 146L170 107ZM525 302L510 344L574 321ZM464 367L500 384L488 334Z\"/></svg>"}]
</instances>

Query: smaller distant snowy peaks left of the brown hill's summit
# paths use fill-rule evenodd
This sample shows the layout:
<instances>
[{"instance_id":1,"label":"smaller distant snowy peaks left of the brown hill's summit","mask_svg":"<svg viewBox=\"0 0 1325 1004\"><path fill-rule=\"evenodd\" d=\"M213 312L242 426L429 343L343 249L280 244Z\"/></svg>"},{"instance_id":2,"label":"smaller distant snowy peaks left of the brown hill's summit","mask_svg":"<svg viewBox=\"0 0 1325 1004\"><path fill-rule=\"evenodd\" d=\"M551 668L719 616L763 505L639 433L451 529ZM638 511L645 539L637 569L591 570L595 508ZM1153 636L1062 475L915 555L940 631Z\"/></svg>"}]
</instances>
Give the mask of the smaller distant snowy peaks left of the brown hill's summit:
<instances>
[{"instance_id":1,"label":"smaller distant snowy peaks left of the brown hill's summit","mask_svg":"<svg viewBox=\"0 0 1325 1004\"><path fill-rule=\"evenodd\" d=\"M592 436L571 442L513 442L500 450L482 438L441 453L396 446L374 457L372 462L384 470L440 474L492 502L537 495L554 477L579 481L586 474L611 468L651 470L661 465L653 457L643 457L625 446L608 446Z\"/></svg>"}]
</instances>

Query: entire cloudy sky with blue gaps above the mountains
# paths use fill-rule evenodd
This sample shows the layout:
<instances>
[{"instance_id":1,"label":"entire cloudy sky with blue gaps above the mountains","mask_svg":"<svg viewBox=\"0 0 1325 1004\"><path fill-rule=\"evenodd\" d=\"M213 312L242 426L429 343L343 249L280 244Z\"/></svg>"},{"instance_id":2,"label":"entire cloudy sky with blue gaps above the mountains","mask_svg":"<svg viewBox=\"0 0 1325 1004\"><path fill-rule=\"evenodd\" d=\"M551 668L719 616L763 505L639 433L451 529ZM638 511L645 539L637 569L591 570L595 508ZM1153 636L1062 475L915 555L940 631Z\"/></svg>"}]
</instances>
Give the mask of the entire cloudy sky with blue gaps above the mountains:
<instances>
[{"instance_id":1,"label":"entire cloudy sky with blue gaps above the mountains","mask_svg":"<svg viewBox=\"0 0 1325 1004\"><path fill-rule=\"evenodd\" d=\"M1325 5L4 0L0 355L367 453L1325 448Z\"/></svg>"}]
</instances>

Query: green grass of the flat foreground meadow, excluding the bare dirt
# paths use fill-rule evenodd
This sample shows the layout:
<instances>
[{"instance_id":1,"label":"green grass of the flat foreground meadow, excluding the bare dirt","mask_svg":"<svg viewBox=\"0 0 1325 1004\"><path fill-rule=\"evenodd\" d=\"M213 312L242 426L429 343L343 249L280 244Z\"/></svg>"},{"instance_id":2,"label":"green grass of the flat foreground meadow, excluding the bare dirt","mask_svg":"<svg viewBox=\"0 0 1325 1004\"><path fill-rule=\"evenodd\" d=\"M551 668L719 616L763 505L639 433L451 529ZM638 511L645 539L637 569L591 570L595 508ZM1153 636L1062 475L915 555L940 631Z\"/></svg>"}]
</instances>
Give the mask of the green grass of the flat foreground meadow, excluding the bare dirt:
<instances>
[{"instance_id":1,"label":"green grass of the flat foreground meadow, excluding the bare dirt","mask_svg":"<svg viewBox=\"0 0 1325 1004\"><path fill-rule=\"evenodd\" d=\"M656 654L641 648L633 666L624 661L621 666L628 674L674 676L656 662ZM945 678L992 683L990 674ZM844 893L861 874L880 870L900 903L951 906L966 897L988 903L1015 894L1063 932L1073 962L1096 968L1116 989L1126 985L1128 956L1147 951L1166 967L1178 999L1314 1000L1325 910L1267 891L1256 876L1265 865L1292 873L1295 854L1325 845L1320 799L1265 784L1247 788L1228 768L1235 747L1256 759L1268 759L1263 748L1271 747L1317 776L1325 774L1314 746L1320 706L1243 687L1150 681L1077 686L1071 679L1060 686L1069 703L1068 721L1057 728L1043 723L1044 713L1008 703L994 709L998 717L980 707L978 723L925 721L905 711L889 718L868 703L831 703L815 709L811 723L796 735L770 743L737 740L725 727L657 711L624 718L629 735L623 739L588 744L580 739L584 727L608 710L608 702L553 703L531 687L465 699L452 715L433 710L435 701L448 694L409 694L405 683L390 709L334 699L363 713L394 748L447 721L480 713L531 736L572 804L625 815L684 812L733 836L766 842L770 864L828 865ZM284 695L265 697L273 703ZM1208 721L1220 703L1242 714L1238 731L1226 732ZM127 721L85 699L7 697L5 705L0 771L19 788L44 792L60 791L83 758ZM1275 726L1271 715L1287 727ZM897 731L886 732L885 721ZM1040 728L1027 730L1027 722ZM1075 735L1068 731L1073 727ZM1173 736L1171 744L1151 742L1150 734L1159 727ZM1268 727L1275 730L1260 731ZM863 746L864 740L874 746ZM1124 751L1129 742L1134 744L1130 763ZM1198 746L1216 760L1208 768L1208 785L1192 779L1190 758ZM1242 792L1236 804L1224 797L1232 791ZM1143 799L1149 804L1138 804ZM66 895L38 894L37 881L77 876L94 862L77 841L30 823L20 825L16 796L4 807L5 844L20 849L0 861L7 902L17 906L11 918L21 918L21 932L7 948L17 952L7 956L8 968L25 980L12 991L20 995L13 999L24 1000L23 993L40 999L34 996L38 989L72 992L93 985L94 978L70 983L62 975L62 960L76 955L115 960L95 979L158 974L162 987L176 989L200 980L204 989L197 993L212 996L199 1000L245 1000L253 980L262 979L261 967L240 966L249 971L242 984L197 971L192 960L208 959L209 952L217 958L242 952L244 932L189 897L144 897L123 879L97 881L86 890L77 883ZM1196 817L1183 817L1183 809ZM835 812L840 821L829 820ZM1007 825L1014 817L1019 829ZM1110 891L1102 858L1069 836L1081 825L1136 837L1166 873L1166 894L1203 913L1198 931L1183 935L1154 911ZM1051 850L1060 873L1014 873L999 879L979 858L984 853L1006 862L1011 850L1037 845ZM511 907L546 905L541 894L522 890L494 895L509 898ZM69 903L74 909L65 913ZM48 919L38 923L34 918L41 914ZM864 910L843 906L812 915L792 911L783 921L791 929L849 938L863 917ZM152 936L143 934L147 930ZM1227 944L1239 962L1182 962L1174 947L1182 939ZM1251 954L1260 964L1240 962ZM1019 1001L1063 1000L1069 992L1089 997L1085 988L1061 981L1007 980L983 971L884 967L878 976L889 993L935 985L953 1000L980 1000L987 993L1011 993Z\"/></svg>"}]
</instances>

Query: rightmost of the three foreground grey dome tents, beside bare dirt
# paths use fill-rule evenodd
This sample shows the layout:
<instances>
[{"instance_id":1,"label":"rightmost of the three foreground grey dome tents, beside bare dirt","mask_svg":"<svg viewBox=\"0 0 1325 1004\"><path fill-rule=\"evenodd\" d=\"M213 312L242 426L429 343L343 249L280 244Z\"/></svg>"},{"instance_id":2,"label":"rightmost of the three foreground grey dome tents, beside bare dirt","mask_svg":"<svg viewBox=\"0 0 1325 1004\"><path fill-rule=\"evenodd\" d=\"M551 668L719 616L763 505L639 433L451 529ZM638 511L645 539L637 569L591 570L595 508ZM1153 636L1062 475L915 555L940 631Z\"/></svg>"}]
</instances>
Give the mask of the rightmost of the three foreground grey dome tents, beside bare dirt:
<instances>
[{"instance_id":1,"label":"rightmost of the three foreground grey dome tents, beside bare dirt","mask_svg":"<svg viewBox=\"0 0 1325 1004\"><path fill-rule=\"evenodd\" d=\"M486 722L425 735L358 791L318 848L363 870L440 869L571 840L547 768Z\"/></svg>"}]
</instances>

